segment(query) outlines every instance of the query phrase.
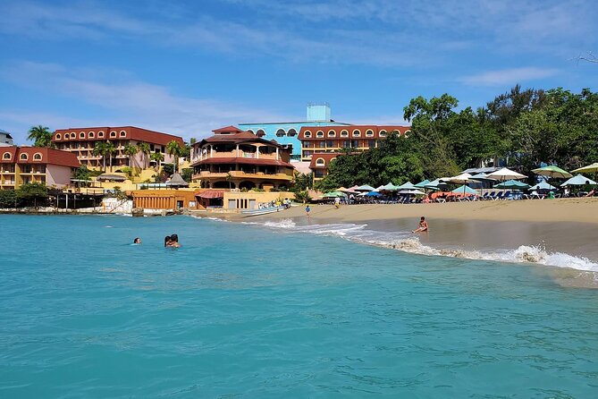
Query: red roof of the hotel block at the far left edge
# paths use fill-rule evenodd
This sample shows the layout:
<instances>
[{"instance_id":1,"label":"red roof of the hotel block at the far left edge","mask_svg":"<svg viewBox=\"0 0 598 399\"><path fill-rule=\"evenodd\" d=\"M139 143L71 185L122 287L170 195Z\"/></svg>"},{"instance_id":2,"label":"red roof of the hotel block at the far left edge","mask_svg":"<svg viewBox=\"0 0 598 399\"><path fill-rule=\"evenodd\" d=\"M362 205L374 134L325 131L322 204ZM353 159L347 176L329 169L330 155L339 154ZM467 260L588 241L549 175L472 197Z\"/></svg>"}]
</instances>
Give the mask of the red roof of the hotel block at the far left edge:
<instances>
[{"instance_id":1,"label":"red roof of the hotel block at the far left edge","mask_svg":"<svg viewBox=\"0 0 598 399\"><path fill-rule=\"evenodd\" d=\"M11 159L4 159L4 153L10 152ZM26 159L21 155L26 154ZM38 155L38 159L36 159ZM16 160L16 161L15 161ZM0 147L0 162L3 164L29 164L29 165L58 165L79 167L80 162L77 156L70 151L60 149L46 149L45 147Z\"/></svg>"}]
</instances>

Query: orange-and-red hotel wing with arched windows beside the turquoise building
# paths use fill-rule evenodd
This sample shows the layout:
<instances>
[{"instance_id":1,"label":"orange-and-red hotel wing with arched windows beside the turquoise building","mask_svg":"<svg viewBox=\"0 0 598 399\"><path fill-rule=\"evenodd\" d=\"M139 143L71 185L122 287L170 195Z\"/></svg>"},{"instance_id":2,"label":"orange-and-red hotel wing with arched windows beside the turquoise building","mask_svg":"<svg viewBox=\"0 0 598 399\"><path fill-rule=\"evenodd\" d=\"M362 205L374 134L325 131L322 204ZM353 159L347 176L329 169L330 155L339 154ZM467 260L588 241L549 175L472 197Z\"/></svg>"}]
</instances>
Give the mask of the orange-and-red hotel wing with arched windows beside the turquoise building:
<instances>
[{"instance_id":1,"label":"orange-and-red hotel wing with arched windows beside the turquoise building","mask_svg":"<svg viewBox=\"0 0 598 399\"><path fill-rule=\"evenodd\" d=\"M299 131L301 141L301 160L310 161L316 154L339 152L341 149L367 151L379 146L390 132L400 132L407 136L411 126L318 126L302 127Z\"/></svg>"}]
</instances>

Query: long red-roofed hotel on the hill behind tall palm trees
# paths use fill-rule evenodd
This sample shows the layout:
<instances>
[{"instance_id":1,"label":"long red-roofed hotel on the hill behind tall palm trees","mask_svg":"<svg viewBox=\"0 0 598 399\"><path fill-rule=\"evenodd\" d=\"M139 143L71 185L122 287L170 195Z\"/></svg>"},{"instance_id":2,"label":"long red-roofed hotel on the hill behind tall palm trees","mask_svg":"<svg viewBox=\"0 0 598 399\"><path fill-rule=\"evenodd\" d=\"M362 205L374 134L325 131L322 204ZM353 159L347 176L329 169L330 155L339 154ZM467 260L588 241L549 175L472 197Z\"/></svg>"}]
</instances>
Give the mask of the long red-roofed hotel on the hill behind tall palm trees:
<instances>
[{"instance_id":1,"label":"long red-roofed hotel on the hill behind tall palm trees","mask_svg":"<svg viewBox=\"0 0 598 399\"><path fill-rule=\"evenodd\" d=\"M59 129L52 136L57 149L71 151L82 165L90 169L101 169L105 166L113 172L122 166L132 166L142 170L156 166L156 161L151 159L153 153L164 156L164 161L160 161L160 164L172 164L174 157L166 151L166 145L172 140L177 141L181 146L184 145L179 136L134 126ZM94 153L96 144L102 141L110 141L114 145L112 154ZM147 144L149 153L144 153L141 149L134 155L125 153L124 149L127 145L138 146L141 143Z\"/></svg>"}]
</instances>

